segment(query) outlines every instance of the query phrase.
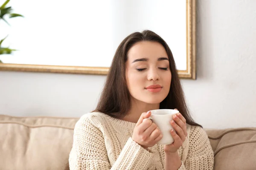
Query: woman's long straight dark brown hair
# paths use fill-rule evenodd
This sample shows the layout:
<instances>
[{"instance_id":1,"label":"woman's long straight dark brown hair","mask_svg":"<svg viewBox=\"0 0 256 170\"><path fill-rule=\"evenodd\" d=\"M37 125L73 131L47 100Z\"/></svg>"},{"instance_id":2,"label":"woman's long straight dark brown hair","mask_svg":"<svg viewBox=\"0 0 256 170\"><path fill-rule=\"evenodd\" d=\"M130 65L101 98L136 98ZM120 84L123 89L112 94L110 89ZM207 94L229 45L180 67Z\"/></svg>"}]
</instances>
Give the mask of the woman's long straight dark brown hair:
<instances>
[{"instance_id":1,"label":"woman's long straight dark brown hair","mask_svg":"<svg viewBox=\"0 0 256 170\"><path fill-rule=\"evenodd\" d=\"M149 30L130 34L118 46L98 105L94 111L105 113L118 119L124 117L128 113L131 106L131 94L125 79L125 62L127 61L127 53L129 49L135 43L140 41L159 42L163 45L169 57L170 70L172 73L171 86L169 94L162 102L160 102L160 109L177 108L186 119L186 123L189 125L201 126L195 123L189 114L172 51L159 35Z\"/></svg>"}]
</instances>

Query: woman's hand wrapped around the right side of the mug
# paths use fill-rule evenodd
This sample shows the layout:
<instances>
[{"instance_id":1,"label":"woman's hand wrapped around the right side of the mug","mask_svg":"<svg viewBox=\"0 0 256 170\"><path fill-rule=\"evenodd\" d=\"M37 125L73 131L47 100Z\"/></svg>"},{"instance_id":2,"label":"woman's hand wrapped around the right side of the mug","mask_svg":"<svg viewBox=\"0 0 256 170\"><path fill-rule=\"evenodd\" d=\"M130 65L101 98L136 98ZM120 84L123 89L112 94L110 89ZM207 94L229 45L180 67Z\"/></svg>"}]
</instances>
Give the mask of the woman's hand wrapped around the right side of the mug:
<instances>
[{"instance_id":1,"label":"woman's hand wrapped around the right side of the mug","mask_svg":"<svg viewBox=\"0 0 256 170\"><path fill-rule=\"evenodd\" d=\"M175 114L173 116L173 120L170 123L177 133L175 133L174 130L171 130L171 135L174 139L174 142L172 144L164 145L163 149L166 154L177 152L187 136L186 119L180 113Z\"/></svg>"}]
</instances>

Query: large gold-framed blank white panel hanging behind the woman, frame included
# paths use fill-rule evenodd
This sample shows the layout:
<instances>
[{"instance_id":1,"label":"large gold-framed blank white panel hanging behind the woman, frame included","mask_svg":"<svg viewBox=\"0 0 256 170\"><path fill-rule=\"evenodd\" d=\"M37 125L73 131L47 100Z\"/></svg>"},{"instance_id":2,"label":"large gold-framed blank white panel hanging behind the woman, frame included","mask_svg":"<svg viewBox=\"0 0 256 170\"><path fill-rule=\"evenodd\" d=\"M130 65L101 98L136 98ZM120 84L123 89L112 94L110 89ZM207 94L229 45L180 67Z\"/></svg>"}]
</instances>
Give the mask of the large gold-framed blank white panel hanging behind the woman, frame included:
<instances>
[{"instance_id":1,"label":"large gold-framed blank white panel hanging behind the woman, frame included","mask_svg":"<svg viewBox=\"0 0 256 170\"><path fill-rule=\"evenodd\" d=\"M12 0L11 26L0 22L1 71L108 74L129 34L151 30L172 50L180 78L196 79L195 0Z\"/></svg>"}]
</instances>

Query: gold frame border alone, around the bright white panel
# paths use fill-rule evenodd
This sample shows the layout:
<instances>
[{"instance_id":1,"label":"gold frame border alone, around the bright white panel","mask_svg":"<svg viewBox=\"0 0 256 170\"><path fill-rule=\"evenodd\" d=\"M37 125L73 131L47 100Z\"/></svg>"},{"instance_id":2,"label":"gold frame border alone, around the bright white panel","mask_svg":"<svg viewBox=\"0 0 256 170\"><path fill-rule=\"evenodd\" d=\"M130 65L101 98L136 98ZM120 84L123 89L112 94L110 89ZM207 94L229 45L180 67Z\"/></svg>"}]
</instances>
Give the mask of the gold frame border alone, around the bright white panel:
<instances>
[{"instance_id":1,"label":"gold frame border alone, around the bright white panel","mask_svg":"<svg viewBox=\"0 0 256 170\"><path fill-rule=\"evenodd\" d=\"M196 5L195 0L186 0L186 70L178 70L180 78L196 79ZM0 71L28 71L67 74L107 75L108 67L83 67L59 65L26 65L0 63Z\"/></svg>"}]
</instances>

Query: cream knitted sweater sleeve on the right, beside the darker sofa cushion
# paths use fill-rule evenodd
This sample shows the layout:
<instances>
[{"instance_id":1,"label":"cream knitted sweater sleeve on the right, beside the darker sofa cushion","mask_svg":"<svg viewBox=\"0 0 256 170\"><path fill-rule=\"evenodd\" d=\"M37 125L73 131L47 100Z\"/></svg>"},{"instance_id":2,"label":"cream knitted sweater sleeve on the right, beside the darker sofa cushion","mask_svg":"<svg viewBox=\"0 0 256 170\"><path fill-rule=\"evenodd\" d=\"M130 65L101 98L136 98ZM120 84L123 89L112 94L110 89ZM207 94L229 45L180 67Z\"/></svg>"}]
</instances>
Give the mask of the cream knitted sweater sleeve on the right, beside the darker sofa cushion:
<instances>
[{"instance_id":1,"label":"cream knitted sweater sleeve on the right, beside the darker sofa cushion","mask_svg":"<svg viewBox=\"0 0 256 170\"><path fill-rule=\"evenodd\" d=\"M189 151L179 170L213 170L214 154L207 133L199 126L191 127Z\"/></svg>"}]
</instances>

